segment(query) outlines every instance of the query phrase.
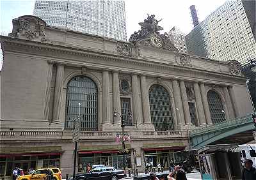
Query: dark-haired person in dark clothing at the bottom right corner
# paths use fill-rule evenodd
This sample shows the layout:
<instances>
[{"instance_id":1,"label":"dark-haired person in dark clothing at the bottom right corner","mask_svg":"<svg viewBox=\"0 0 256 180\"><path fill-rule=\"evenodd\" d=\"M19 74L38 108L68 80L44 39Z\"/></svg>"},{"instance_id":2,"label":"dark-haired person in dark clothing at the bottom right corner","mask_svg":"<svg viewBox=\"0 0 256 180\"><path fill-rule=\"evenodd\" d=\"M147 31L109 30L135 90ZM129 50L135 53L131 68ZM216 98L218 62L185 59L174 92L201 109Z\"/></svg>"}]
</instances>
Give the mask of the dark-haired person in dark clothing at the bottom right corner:
<instances>
[{"instance_id":1,"label":"dark-haired person in dark clothing at the bottom right corner","mask_svg":"<svg viewBox=\"0 0 256 180\"><path fill-rule=\"evenodd\" d=\"M244 160L244 169L242 171L242 180L255 180L256 179L256 169L252 167L252 160Z\"/></svg>"}]
</instances>

